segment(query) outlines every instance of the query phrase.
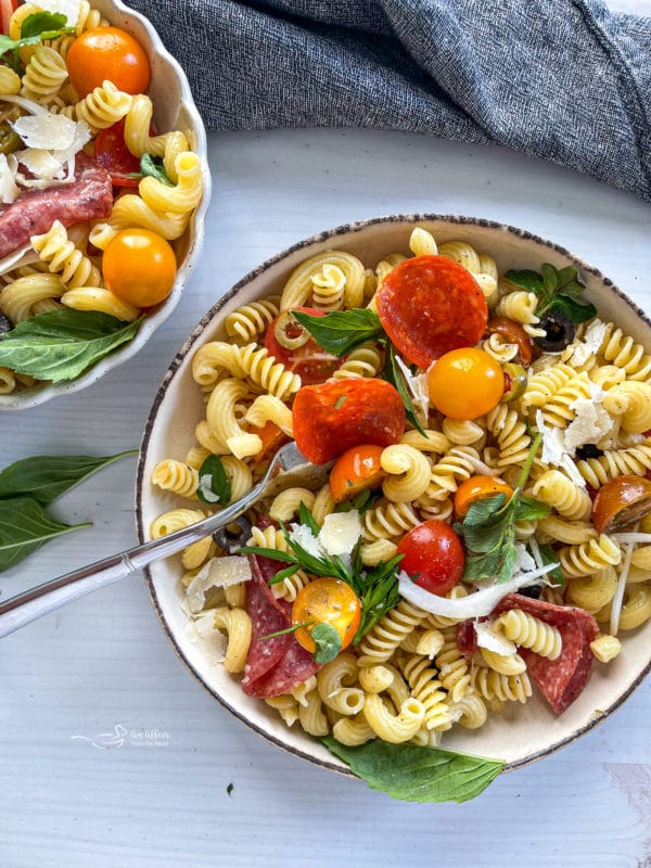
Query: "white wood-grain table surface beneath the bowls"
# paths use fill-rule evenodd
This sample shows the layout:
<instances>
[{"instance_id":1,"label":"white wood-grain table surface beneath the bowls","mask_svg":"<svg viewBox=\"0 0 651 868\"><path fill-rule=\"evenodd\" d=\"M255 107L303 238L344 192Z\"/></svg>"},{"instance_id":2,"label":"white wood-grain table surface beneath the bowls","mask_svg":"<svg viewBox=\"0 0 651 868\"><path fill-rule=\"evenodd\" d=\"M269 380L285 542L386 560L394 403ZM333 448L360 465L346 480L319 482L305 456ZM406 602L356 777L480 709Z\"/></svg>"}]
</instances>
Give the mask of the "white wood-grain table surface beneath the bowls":
<instances>
[{"instance_id":1,"label":"white wood-grain table surface beneath the bowls","mask_svg":"<svg viewBox=\"0 0 651 868\"><path fill-rule=\"evenodd\" d=\"M649 206L589 178L392 132L213 135L209 146L207 242L176 312L99 384L5 413L1 465L137 447L201 315L270 254L350 220L431 212L521 226L649 309ZM123 460L60 499L56 516L93 527L0 575L2 597L133 545L135 467ZM600 727L473 802L397 803L231 717L177 660L137 576L2 641L0 866L649 866L650 716L647 682Z\"/></svg>"}]
</instances>

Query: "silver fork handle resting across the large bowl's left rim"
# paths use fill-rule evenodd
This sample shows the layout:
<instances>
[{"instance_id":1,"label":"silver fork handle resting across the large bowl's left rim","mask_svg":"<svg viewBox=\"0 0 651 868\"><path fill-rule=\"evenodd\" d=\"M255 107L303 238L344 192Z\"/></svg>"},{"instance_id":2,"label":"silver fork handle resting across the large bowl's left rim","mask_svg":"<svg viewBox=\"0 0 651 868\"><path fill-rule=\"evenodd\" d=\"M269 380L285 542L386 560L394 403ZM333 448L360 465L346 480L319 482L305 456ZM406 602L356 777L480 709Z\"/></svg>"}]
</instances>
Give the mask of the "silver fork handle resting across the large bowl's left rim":
<instances>
[{"instance_id":1,"label":"silver fork handle resting across the large bowl's left rim","mask_svg":"<svg viewBox=\"0 0 651 868\"><path fill-rule=\"evenodd\" d=\"M237 500L214 515L195 524L189 524L167 536L143 542L118 554L95 561L80 570L73 570L9 600L0 601L0 639L14 630L30 624L42 615L54 612L73 600L104 588L120 578L139 573L150 563L176 554L177 551L219 531L245 512L260 498L266 488L265 481L251 489L241 500Z\"/></svg>"}]
</instances>

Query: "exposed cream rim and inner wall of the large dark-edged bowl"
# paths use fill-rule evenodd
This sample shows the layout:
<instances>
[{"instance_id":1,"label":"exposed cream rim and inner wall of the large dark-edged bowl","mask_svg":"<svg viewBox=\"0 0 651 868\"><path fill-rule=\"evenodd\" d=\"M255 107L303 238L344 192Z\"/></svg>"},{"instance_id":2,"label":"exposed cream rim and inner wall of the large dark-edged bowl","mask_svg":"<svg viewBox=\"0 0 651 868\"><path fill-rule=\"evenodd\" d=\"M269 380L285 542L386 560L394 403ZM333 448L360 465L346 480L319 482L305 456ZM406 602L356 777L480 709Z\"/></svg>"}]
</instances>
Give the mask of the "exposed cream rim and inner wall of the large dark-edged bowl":
<instances>
[{"instance_id":1,"label":"exposed cream rim and inner wall of the large dark-edged bowl","mask_svg":"<svg viewBox=\"0 0 651 868\"><path fill-rule=\"evenodd\" d=\"M150 484L152 470L163 458L186 454L194 442L194 426L203 418L204 404L191 375L193 352L205 341L224 337L227 314L253 299L279 293L292 269L308 256L337 248L374 265L387 252L409 254L407 245L414 225L432 231L437 242L468 241L492 255L500 273L508 268L539 270L545 261L559 268L577 266L587 283L586 296L596 304L599 314L651 347L651 322L610 280L562 247L521 229L467 217L403 215L323 232L268 259L243 278L203 317L177 354L150 412L141 446L137 482L141 541L148 538L153 519L177 503L174 497ZM210 664L190 641L186 634L187 618L180 609L181 573L178 559L171 558L152 565L146 571L146 583L161 624L190 672L222 705L272 743L321 766L347 771L318 741L298 727L288 729L264 702L245 695L224 667ZM622 654L608 667L592 667L588 686L561 716L557 717L541 698L534 695L524 706L507 703L503 714L489 716L478 730L459 731L457 727L445 733L443 746L499 758L506 761L506 768L512 769L571 742L615 710L649 672L651 623L624 637Z\"/></svg>"}]
</instances>

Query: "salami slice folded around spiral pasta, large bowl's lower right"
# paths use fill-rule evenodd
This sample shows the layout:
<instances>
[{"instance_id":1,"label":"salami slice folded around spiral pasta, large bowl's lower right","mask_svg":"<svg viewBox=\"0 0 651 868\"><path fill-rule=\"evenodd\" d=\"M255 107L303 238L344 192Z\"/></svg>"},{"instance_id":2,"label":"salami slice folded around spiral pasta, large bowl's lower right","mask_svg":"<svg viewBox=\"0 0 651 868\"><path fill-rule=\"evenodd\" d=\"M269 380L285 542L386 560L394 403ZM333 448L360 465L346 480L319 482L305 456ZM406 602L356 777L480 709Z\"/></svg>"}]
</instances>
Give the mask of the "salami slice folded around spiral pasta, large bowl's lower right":
<instances>
[{"instance_id":1,"label":"salami slice folded around spiral pasta, large bowl's lower right","mask_svg":"<svg viewBox=\"0 0 651 868\"><path fill-rule=\"evenodd\" d=\"M509 609L522 609L546 624L558 627L561 633L563 650L557 660L548 660L525 648L520 649L529 676L553 711L561 714L587 684L592 662L590 642L599 634L597 622L584 609L554 605L521 593L507 595L494 614Z\"/></svg>"}]
</instances>

